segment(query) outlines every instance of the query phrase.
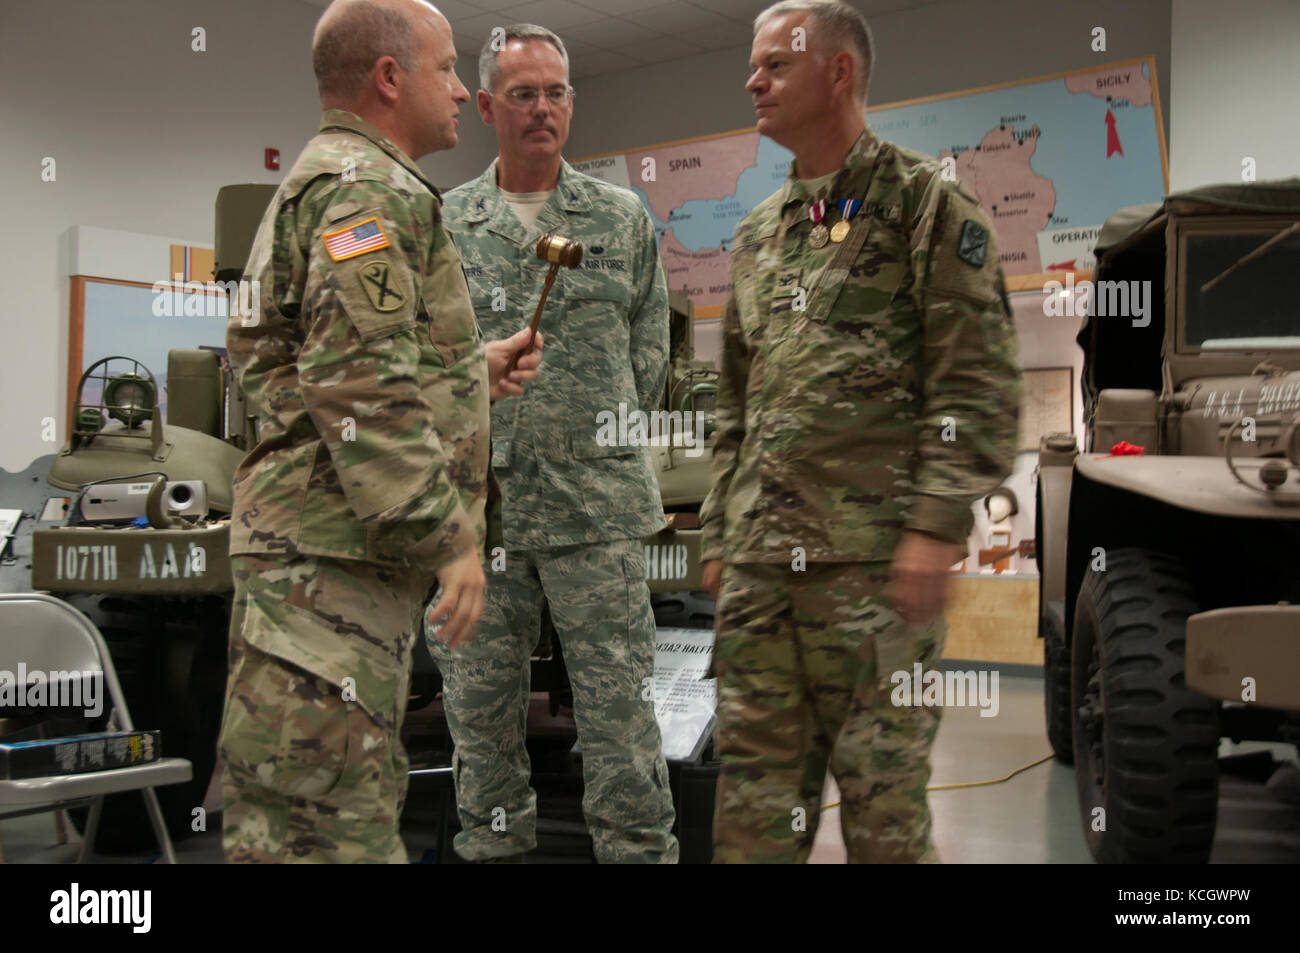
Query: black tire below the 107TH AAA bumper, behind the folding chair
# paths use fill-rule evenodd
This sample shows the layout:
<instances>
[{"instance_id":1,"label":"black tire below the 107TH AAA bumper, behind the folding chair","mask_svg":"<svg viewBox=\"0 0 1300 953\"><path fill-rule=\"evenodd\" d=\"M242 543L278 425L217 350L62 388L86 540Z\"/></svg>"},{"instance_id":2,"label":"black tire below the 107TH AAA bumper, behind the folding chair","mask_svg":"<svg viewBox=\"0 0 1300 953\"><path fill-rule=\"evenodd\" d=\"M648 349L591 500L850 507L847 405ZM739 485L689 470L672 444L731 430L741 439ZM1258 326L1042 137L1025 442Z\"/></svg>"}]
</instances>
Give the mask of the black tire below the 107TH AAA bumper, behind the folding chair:
<instances>
[{"instance_id":1,"label":"black tire below the 107TH AAA bumper, behind the folding chair","mask_svg":"<svg viewBox=\"0 0 1300 953\"><path fill-rule=\"evenodd\" d=\"M185 758L192 776L156 788L173 841L192 833L217 759L226 686L228 597L70 595L68 602L99 628L138 729L161 731L162 757ZM107 706L105 706L107 707ZM104 719L95 725L103 728ZM69 811L84 832L88 809ZM103 854L157 849L139 792L104 798L95 850Z\"/></svg>"}]
</instances>

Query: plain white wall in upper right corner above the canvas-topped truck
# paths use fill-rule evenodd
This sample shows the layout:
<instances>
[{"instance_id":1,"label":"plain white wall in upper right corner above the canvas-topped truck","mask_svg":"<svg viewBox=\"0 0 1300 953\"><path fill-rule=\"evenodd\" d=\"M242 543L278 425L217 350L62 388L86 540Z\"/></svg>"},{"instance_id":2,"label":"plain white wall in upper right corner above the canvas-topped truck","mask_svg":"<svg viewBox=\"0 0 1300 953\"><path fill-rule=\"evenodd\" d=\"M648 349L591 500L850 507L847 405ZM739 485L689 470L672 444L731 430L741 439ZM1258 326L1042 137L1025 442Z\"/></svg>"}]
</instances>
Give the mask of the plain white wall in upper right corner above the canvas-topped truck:
<instances>
[{"instance_id":1,"label":"plain white wall in upper right corner above the canvas-topped truck","mask_svg":"<svg viewBox=\"0 0 1300 953\"><path fill-rule=\"evenodd\" d=\"M1174 0L1170 189L1300 176L1300 3Z\"/></svg>"}]
</instances>

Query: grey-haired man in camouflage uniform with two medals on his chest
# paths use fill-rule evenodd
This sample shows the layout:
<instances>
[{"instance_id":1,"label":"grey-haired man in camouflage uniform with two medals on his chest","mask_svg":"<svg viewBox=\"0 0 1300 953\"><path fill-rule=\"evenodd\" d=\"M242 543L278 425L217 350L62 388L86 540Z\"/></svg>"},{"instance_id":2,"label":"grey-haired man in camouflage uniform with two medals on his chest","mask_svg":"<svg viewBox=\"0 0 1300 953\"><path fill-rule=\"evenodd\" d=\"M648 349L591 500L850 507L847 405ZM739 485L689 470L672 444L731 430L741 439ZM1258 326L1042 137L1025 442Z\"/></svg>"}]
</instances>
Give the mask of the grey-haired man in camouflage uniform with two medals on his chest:
<instances>
[{"instance_id":1,"label":"grey-haired man in camouflage uniform with two medals on his chest","mask_svg":"<svg viewBox=\"0 0 1300 953\"><path fill-rule=\"evenodd\" d=\"M845 4L755 21L746 88L796 160L732 241L701 511L719 599L715 862L806 861L828 766L850 862L936 859L939 711L893 706L889 676L937 664L971 504L1014 456L992 230L939 164L866 127L870 61Z\"/></svg>"}]
</instances>

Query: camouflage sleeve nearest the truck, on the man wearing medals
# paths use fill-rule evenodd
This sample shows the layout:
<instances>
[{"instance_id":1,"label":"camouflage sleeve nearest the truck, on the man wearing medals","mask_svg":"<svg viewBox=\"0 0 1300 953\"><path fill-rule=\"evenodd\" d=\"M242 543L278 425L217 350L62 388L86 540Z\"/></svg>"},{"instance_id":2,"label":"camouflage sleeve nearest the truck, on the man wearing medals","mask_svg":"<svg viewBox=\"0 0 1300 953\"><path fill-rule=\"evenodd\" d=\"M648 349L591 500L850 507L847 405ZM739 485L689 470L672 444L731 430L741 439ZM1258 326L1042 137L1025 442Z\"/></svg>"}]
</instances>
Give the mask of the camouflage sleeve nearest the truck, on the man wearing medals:
<instances>
[{"instance_id":1,"label":"camouflage sleeve nearest the truck, on the man wearing medals","mask_svg":"<svg viewBox=\"0 0 1300 953\"><path fill-rule=\"evenodd\" d=\"M997 242L984 211L935 176L913 224L924 329L924 410L907 529L965 543L971 504L1015 459L1019 355Z\"/></svg>"}]
</instances>

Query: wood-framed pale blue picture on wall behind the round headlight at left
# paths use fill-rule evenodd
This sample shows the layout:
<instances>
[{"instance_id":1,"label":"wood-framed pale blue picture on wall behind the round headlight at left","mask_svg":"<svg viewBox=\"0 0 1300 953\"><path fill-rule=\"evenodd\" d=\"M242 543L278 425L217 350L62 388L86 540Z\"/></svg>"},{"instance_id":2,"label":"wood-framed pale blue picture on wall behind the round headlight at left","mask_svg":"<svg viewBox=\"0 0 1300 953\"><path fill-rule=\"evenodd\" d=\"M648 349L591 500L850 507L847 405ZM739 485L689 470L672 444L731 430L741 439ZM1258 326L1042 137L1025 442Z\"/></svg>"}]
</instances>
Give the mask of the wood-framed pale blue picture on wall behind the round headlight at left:
<instances>
[{"instance_id":1,"label":"wood-framed pale blue picture on wall behind the round headlight at left","mask_svg":"<svg viewBox=\"0 0 1300 953\"><path fill-rule=\"evenodd\" d=\"M166 420L166 356L178 348L225 355L226 295L198 281L157 282L73 276L68 330L68 425L77 412L82 373L103 358L131 358L159 386ZM101 382L87 381L86 402L98 402Z\"/></svg>"}]
</instances>

